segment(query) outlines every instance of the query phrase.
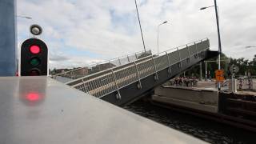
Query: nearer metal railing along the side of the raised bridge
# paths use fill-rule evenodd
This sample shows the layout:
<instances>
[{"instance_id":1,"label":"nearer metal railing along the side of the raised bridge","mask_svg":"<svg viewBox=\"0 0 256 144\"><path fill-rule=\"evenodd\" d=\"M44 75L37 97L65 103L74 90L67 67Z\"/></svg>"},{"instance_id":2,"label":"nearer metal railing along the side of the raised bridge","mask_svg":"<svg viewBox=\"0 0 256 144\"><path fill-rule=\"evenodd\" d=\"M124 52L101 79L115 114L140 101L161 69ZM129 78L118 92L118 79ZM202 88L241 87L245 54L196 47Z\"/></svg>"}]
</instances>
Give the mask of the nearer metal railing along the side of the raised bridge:
<instances>
[{"instance_id":1,"label":"nearer metal railing along the side of the raised bridge","mask_svg":"<svg viewBox=\"0 0 256 144\"><path fill-rule=\"evenodd\" d=\"M142 88L141 80L154 74L158 79L160 70L169 68L178 63L182 66L182 61L190 61L191 57L199 57L202 51L208 50L210 43L208 39L189 43L184 46L166 50L162 53L150 55L145 58L130 62L125 66L117 66L110 70L104 70L98 74L78 78L66 83L78 90L102 98L107 94L117 91L117 98L121 97L119 90L131 83L137 82L138 89Z\"/></svg>"}]
</instances>

